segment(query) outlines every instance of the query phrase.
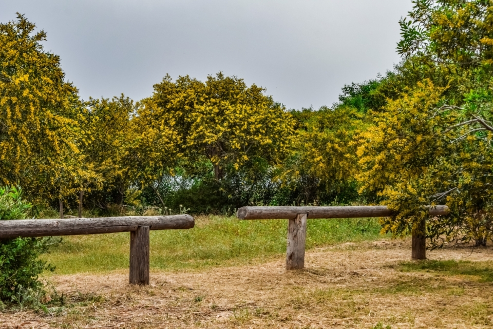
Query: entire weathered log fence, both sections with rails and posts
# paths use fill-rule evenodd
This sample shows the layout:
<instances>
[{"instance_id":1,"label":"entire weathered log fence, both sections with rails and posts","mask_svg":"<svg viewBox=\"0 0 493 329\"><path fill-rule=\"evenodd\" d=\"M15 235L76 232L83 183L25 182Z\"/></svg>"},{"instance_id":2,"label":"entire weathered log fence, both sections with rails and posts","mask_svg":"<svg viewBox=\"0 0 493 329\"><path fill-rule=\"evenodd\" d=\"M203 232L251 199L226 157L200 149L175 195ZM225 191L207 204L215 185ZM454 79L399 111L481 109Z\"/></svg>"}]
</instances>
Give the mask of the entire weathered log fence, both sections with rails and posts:
<instances>
[{"instance_id":1,"label":"entire weathered log fence, both sections with rails and posts","mask_svg":"<svg viewBox=\"0 0 493 329\"><path fill-rule=\"evenodd\" d=\"M429 216L447 215L447 206L429 208ZM386 206L242 207L239 219L288 219L286 268L305 266L307 219L388 217ZM130 232L130 283L149 284L149 230L187 229L195 226L189 215L32 219L0 221L0 239ZM412 234L412 259L426 259L425 222Z\"/></svg>"}]
</instances>

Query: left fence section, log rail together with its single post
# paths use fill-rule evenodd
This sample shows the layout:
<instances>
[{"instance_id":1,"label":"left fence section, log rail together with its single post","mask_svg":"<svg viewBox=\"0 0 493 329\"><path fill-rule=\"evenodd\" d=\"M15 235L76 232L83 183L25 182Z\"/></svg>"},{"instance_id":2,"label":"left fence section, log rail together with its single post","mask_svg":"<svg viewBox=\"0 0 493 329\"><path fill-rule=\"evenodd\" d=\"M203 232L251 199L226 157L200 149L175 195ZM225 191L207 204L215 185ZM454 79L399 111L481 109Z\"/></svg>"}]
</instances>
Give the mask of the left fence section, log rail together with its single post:
<instances>
[{"instance_id":1,"label":"left fence section, log rail together with its single post","mask_svg":"<svg viewBox=\"0 0 493 329\"><path fill-rule=\"evenodd\" d=\"M149 284L149 230L187 229L189 215L0 221L0 239L130 232L130 283Z\"/></svg>"}]
</instances>

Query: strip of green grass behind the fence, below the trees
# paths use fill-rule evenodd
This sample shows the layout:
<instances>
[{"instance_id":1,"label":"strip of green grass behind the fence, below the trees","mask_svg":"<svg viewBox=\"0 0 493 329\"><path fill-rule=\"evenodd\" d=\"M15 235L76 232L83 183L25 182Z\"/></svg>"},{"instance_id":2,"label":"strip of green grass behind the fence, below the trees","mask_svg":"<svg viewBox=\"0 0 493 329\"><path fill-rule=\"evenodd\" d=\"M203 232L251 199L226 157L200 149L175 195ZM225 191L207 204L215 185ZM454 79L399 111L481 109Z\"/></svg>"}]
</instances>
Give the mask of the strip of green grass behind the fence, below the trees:
<instances>
[{"instance_id":1,"label":"strip of green grass behind the fence, below the trees","mask_svg":"<svg viewBox=\"0 0 493 329\"><path fill-rule=\"evenodd\" d=\"M286 253L287 220L210 216L189 230L150 233L151 269L200 269L261 262ZM376 219L308 220L307 249L379 237ZM129 233L64 237L43 259L56 274L128 268Z\"/></svg>"}]
</instances>

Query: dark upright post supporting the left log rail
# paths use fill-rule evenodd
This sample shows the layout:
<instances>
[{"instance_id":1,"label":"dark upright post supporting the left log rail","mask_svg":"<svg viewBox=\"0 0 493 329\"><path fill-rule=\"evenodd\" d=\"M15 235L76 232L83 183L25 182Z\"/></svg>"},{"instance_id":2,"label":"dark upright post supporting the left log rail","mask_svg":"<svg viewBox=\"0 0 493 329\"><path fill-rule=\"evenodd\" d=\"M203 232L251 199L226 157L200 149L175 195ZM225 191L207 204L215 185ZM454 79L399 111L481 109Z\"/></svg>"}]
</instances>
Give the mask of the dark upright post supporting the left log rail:
<instances>
[{"instance_id":1,"label":"dark upright post supporting the left log rail","mask_svg":"<svg viewBox=\"0 0 493 329\"><path fill-rule=\"evenodd\" d=\"M130 232L130 283L149 284L149 226Z\"/></svg>"}]
</instances>

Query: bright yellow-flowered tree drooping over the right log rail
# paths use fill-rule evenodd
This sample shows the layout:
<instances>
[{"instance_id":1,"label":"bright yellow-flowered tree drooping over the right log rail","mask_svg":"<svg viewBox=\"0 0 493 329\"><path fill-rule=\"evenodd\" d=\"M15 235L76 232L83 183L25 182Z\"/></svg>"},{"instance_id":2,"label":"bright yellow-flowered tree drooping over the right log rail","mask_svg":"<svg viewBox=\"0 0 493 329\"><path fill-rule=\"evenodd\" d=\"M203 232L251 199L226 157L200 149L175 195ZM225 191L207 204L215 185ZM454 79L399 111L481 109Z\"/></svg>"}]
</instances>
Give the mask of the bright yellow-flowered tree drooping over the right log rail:
<instances>
[{"instance_id":1,"label":"bright yellow-flowered tree drooping over the right log rail","mask_svg":"<svg viewBox=\"0 0 493 329\"><path fill-rule=\"evenodd\" d=\"M394 236L426 235L427 206L441 178L433 168L448 155L441 127L449 122L432 112L443 92L429 80L419 83L375 113L374 125L359 137L361 191L376 193L396 211L382 220L383 231Z\"/></svg>"}]
</instances>

